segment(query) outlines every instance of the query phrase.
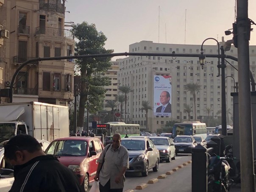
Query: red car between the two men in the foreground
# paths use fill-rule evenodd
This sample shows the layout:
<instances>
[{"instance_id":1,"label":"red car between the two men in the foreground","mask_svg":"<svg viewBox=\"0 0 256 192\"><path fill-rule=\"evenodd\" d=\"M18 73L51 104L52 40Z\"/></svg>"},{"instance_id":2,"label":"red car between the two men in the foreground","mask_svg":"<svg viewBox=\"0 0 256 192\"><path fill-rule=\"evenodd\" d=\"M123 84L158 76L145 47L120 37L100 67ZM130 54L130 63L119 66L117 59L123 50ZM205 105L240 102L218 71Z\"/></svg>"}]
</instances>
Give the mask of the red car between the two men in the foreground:
<instances>
[{"instance_id":1,"label":"red car between the two men in the foreground","mask_svg":"<svg viewBox=\"0 0 256 192\"><path fill-rule=\"evenodd\" d=\"M89 183L94 181L97 159L103 148L96 137L65 137L51 142L45 153L58 157L62 164L74 171L87 192Z\"/></svg>"}]
</instances>

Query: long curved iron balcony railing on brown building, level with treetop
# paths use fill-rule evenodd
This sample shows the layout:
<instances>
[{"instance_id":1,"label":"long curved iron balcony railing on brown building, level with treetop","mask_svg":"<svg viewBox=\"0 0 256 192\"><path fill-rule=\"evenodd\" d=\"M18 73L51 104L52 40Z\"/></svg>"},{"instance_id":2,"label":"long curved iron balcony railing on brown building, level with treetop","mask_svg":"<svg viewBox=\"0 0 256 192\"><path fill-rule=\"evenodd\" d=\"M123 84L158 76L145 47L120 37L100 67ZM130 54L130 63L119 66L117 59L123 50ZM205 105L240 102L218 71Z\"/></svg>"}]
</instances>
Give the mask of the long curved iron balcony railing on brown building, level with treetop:
<instances>
[{"instance_id":1,"label":"long curved iron balcony railing on brown building, level with treetop","mask_svg":"<svg viewBox=\"0 0 256 192\"><path fill-rule=\"evenodd\" d=\"M45 34L48 36L62 36L73 39L73 35L67 29L51 28L51 27L37 27L36 35Z\"/></svg>"}]
</instances>

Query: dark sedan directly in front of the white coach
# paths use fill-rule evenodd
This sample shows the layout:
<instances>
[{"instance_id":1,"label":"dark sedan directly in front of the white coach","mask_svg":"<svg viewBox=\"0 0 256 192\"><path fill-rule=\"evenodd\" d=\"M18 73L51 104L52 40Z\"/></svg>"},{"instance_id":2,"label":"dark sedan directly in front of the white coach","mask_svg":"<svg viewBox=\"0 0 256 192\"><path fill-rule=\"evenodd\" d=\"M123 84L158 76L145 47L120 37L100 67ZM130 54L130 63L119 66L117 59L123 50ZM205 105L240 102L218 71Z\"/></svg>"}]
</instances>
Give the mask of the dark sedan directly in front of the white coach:
<instances>
[{"instance_id":1,"label":"dark sedan directly in front of the white coach","mask_svg":"<svg viewBox=\"0 0 256 192\"><path fill-rule=\"evenodd\" d=\"M190 135L177 135L174 139L175 153L192 153L192 149L197 146L197 142Z\"/></svg>"}]
</instances>

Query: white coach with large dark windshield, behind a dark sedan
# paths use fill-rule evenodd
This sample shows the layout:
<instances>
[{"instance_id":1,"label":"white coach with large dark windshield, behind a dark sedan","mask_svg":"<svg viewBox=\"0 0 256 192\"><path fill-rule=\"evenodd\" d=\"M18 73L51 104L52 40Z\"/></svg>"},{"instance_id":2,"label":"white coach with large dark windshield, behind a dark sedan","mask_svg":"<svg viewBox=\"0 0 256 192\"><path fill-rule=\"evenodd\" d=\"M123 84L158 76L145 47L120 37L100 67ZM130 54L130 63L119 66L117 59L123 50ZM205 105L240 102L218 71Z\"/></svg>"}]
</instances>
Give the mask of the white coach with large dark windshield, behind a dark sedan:
<instances>
[{"instance_id":1,"label":"white coach with large dark windshield, behind a dark sedan","mask_svg":"<svg viewBox=\"0 0 256 192\"><path fill-rule=\"evenodd\" d=\"M205 139L207 136L206 124L200 121L184 121L181 123L175 123L173 125L172 138L177 135L198 135L203 136Z\"/></svg>"}]
</instances>

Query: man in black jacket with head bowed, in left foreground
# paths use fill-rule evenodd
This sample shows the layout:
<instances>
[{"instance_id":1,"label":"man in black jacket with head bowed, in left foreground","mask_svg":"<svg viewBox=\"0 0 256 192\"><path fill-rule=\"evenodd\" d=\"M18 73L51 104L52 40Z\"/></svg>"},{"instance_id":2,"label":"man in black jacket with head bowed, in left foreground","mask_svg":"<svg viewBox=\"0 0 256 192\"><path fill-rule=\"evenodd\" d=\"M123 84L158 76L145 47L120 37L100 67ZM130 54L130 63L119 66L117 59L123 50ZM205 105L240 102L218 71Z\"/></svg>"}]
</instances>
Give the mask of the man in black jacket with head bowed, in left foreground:
<instances>
[{"instance_id":1,"label":"man in black jacket with head bowed, in left foreground","mask_svg":"<svg viewBox=\"0 0 256 192\"><path fill-rule=\"evenodd\" d=\"M6 161L14 166L14 183L9 192L83 191L72 170L46 155L32 136L14 136L4 148Z\"/></svg>"}]
</instances>

